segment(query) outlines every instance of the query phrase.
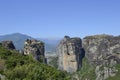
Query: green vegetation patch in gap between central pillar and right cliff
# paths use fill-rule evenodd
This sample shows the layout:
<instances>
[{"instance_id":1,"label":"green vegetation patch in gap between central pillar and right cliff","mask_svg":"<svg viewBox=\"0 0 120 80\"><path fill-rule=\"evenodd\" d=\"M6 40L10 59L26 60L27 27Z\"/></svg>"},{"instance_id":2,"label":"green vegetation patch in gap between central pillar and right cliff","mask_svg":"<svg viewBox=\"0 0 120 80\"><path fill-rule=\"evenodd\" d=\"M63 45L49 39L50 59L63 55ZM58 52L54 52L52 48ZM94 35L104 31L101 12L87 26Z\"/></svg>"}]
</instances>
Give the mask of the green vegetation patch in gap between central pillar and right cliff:
<instances>
[{"instance_id":1,"label":"green vegetation patch in gap between central pillar and right cliff","mask_svg":"<svg viewBox=\"0 0 120 80\"><path fill-rule=\"evenodd\" d=\"M76 73L71 74L73 80L95 80L95 68L91 66L87 58L83 58L83 65Z\"/></svg>"}]
</instances>

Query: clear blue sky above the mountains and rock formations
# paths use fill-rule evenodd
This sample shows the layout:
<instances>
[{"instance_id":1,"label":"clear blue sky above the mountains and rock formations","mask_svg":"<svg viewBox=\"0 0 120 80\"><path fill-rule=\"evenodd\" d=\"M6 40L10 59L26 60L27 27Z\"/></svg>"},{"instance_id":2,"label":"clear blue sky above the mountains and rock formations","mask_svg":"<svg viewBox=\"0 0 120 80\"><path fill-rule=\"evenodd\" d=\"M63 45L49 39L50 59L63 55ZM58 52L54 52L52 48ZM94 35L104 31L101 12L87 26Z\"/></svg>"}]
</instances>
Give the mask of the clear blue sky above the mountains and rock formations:
<instances>
[{"instance_id":1,"label":"clear blue sky above the mountains and rock formations","mask_svg":"<svg viewBox=\"0 0 120 80\"><path fill-rule=\"evenodd\" d=\"M0 35L120 35L120 0L0 0Z\"/></svg>"}]
</instances>

